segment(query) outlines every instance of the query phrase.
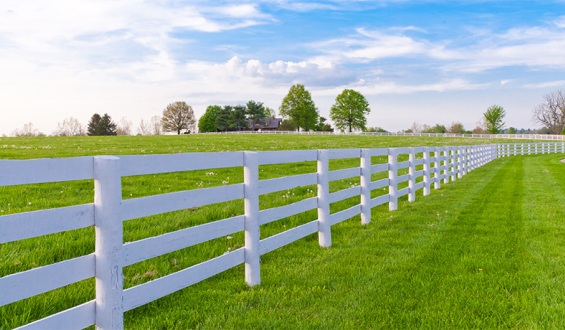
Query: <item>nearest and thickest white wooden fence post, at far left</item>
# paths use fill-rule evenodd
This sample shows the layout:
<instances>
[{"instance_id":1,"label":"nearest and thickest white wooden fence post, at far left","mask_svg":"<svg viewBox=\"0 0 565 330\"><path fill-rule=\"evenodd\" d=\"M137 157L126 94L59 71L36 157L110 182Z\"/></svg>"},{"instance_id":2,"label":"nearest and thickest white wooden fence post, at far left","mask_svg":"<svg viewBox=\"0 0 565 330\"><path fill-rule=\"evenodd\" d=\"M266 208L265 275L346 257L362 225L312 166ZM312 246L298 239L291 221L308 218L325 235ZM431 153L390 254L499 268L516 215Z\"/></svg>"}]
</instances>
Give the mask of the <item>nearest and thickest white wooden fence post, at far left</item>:
<instances>
[{"instance_id":1,"label":"nearest and thickest white wooden fence post, at far left","mask_svg":"<svg viewBox=\"0 0 565 330\"><path fill-rule=\"evenodd\" d=\"M120 159L101 156L94 165L94 255L96 258L97 329L123 329L123 226L120 217Z\"/></svg>"}]
</instances>

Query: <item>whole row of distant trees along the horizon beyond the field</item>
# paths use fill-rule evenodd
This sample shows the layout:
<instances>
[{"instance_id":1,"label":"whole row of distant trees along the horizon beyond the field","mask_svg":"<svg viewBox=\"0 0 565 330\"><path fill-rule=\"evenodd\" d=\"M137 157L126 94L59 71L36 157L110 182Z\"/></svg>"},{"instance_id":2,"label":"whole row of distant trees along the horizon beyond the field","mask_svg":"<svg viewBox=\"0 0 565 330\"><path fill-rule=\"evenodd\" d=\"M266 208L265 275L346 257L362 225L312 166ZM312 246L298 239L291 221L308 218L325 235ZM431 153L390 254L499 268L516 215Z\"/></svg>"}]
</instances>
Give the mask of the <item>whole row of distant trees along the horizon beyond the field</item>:
<instances>
[{"instance_id":1,"label":"whole row of distant trees along the horizon beyond the field","mask_svg":"<svg viewBox=\"0 0 565 330\"><path fill-rule=\"evenodd\" d=\"M457 133L457 134L497 134L497 133L540 133L565 135L565 91L559 90L545 95L544 102L533 110L533 119L543 125L540 130L505 129L506 110L500 105L490 106L473 130L465 130L460 122L454 122L449 128L442 124L419 125L413 123L404 132L412 133ZM330 109L330 119L336 129L342 132L366 131L386 132L380 127L367 127L366 116L371 109L367 99L359 92L344 89L337 95ZM279 107L279 130L333 131L327 119L319 115L310 92L301 84L291 86ZM256 130L275 119L273 109L265 107L262 102L248 101L245 105L210 105L200 120L196 120L194 111L184 101L174 102L166 106L162 116L153 116L149 121L141 120L137 130L140 135L158 135L161 132L177 134L194 132L198 124L200 132L223 132L236 130ZM114 122L107 114L92 115L86 129L74 117L67 118L57 124L53 135L132 135L132 122L122 118ZM22 129L12 132L14 136L45 135L27 123Z\"/></svg>"}]
</instances>

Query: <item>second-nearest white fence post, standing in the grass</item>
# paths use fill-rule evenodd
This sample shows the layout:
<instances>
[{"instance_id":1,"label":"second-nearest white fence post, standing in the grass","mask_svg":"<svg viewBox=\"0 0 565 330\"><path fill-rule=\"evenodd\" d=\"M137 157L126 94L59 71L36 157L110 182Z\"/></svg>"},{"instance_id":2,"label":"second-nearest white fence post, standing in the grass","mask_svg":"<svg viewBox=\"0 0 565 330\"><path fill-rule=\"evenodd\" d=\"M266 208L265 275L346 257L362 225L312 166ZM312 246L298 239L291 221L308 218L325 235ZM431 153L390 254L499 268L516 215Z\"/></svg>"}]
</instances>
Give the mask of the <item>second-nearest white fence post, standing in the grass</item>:
<instances>
[{"instance_id":1,"label":"second-nearest white fence post, standing in the grass","mask_svg":"<svg viewBox=\"0 0 565 330\"><path fill-rule=\"evenodd\" d=\"M243 195L245 205L245 282L261 284L259 254L259 161L256 152L243 153Z\"/></svg>"}]
</instances>

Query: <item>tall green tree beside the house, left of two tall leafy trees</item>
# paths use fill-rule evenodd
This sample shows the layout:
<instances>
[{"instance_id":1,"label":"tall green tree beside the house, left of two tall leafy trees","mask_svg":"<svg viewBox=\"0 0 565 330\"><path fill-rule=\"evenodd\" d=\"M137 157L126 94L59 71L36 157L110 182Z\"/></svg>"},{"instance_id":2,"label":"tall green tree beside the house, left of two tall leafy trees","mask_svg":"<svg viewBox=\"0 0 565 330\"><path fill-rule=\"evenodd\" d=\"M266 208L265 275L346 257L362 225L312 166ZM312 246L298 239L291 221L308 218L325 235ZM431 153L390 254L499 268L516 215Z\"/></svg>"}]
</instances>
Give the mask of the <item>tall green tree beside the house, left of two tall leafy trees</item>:
<instances>
[{"instance_id":1,"label":"tall green tree beside the house, left of two tall leafy trees","mask_svg":"<svg viewBox=\"0 0 565 330\"><path fill-rule=\"evenodd\" d=\"M279 113L284 118L291 119L298 130L302 128L309 131L318 121L318 109L312 101L310 92L301 84L290 87L279 107Z\"/></svg>"}]
</instances>

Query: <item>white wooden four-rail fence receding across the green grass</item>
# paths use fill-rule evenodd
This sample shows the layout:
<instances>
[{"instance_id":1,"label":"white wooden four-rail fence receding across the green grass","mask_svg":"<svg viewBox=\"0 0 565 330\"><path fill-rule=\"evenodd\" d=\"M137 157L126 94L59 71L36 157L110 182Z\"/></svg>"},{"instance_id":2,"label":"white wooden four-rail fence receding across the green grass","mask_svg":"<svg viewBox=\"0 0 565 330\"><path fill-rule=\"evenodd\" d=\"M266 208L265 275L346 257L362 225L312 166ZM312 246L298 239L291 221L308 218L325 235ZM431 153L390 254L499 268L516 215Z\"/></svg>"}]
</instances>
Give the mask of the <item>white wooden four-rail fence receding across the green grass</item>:
<instances>
[{"instance_id":1,"label":"white wooden four-rail fence receding across the green grass","mask_svg":"<svg viewBox=\"0 0 565 330\"><path fill-rule=\"evenodd\" d=\"M101 156L65 159L0 160L0 186L94 179L93 203L0 216L0 244L47 234L95 227L95 252L0 278L0 306L88 278L96 278L96 298L25 325L27 329L123 328L123 313L177 290L245 264L245 281L261 282L260 256L318 233L319 245L332 245L331 227L360 214L371 222L371 209L387 204L391 211L407 195L430 193L497 157L565 152L565 143L478 145L458 147L301 150L277 152L186 153L151 156ZM399 161L399 155L403 155ZM384 163L372 157L387 156ZM331 159L359 158L360 166L329 170ZM379 158L374 158L379 159ZM382 159L382 157L380 158ZM259 180L259 166L316 161L317 172ZM242 167L244 183L122 199L124 176ZM399 172L401 171L401 172ZM399 173L408 174L400 175ZM371 181L374 173L388 178ZM329 182L351 177L360 185L330 193ZM404 183L405 188L399 189ZM407 184L406 184L407 183ZM282 207L259 209L259 196L306 185L317 185L317 196ZM371 198L371 191L388 187L388 194ZM330 204L359 196L359 204L330 213ZM123 244L123 221L244 199L242 215ZM318 219L260 239L261 225L317 209ZM123 289L122 268L211 239L245 232L245 246L156 280ZM9 316L5 316L9 317Z\"/></svg>"}]
</instances>

